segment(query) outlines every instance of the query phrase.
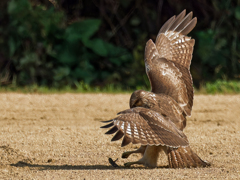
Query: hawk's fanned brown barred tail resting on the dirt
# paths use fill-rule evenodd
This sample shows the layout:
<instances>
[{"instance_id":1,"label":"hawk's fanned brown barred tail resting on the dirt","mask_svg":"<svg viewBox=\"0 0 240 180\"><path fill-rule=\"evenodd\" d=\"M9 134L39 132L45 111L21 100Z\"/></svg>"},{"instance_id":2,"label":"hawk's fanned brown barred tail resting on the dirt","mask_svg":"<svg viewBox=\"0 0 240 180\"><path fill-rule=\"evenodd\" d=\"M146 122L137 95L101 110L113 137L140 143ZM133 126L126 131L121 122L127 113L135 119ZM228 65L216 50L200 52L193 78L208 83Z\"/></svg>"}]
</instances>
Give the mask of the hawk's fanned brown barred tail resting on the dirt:
<instances>
[{"instance_id":1,"label":"hawk's fanned brown barred tail resting on the dirt","mask_svg":"<svg viewBox=\"0 0 240 180\"><path fill-rule=\"evenodd\" d=\"M202 160L189 146L168 149L170 168L206 167L210 163Z\"/></svg>"}]
</instances>

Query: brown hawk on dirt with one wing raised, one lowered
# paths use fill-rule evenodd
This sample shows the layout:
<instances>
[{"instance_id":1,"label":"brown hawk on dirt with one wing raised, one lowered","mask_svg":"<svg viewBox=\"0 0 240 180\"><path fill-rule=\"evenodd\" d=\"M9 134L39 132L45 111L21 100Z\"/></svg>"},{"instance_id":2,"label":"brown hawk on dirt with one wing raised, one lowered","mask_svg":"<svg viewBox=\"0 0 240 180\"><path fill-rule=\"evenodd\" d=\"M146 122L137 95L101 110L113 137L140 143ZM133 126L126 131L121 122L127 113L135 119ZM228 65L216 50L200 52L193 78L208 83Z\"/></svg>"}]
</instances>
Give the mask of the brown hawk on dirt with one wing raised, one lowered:
<instances>
[{"instance_id":1,"label":"brown hawk on dirt with one wing raised, one lowered","mask_svg":"<svg viewBox=\"0 0 240 180\"><path fill-rule=\"evenodd\" d=\"M151 92L137 90L130 98L130 109L118 113L118 117L102 128L112 127L106 134L113 134L112 141L123 137L122 146L141 144L136 151L122 154L127 158L132 153L141 153L142 158L125 166L143 164L156 167L159 153L168 156L169 167L206 167L189 146L183 133L186 117L193 106L193 83L190 64L194 39L187 34L196 26L197 18L184 10L170 18L160 29L156 42L151 39L145 48L145 68L151 83Z\"/></svg>"}]
</instances>

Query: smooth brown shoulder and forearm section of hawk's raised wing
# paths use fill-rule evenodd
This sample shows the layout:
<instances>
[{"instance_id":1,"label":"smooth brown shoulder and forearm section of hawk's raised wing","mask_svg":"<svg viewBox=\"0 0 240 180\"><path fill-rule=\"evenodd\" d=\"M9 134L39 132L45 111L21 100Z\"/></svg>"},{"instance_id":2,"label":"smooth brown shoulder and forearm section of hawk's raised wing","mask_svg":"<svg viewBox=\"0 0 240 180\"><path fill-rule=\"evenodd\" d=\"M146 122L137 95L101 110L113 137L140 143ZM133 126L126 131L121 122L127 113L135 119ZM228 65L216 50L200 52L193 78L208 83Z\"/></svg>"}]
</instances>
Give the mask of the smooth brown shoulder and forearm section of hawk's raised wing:
<instances>
[{"instance_id":1,"label":"smooth brown shoulder and forearm section of hawk's raised wing","mask_svg":"<svg viewBox=\"0 0 240 180\"><path fill-rule=\"evenodd\" d=\"M169 95L182 107L187 105L188 95L182 73L173 62L159 58L156 46L151 39L145 48L145 67L152 92Z\"/></svg>"}]
</instances>

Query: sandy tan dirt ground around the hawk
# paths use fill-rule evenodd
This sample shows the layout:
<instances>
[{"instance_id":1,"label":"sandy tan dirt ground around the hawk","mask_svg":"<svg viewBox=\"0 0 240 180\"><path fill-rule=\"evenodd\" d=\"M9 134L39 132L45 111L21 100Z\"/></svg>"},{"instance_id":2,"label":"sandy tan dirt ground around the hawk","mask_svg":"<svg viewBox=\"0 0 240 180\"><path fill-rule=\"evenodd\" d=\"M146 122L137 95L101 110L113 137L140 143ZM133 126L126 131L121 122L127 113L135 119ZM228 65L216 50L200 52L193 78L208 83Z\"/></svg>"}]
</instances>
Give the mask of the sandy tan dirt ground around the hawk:
<instances>
[{"instance_id":1,"label":"sandy tan dirt ground around the hawk","mask_svg":"<svg viewBox=\"0 0 240 180\"><path fill-rule=\"evenodd\" d=\"M184 130L209 168L125 168L121 142L101 120L128 108L130 94L0 94L0 179L240 179L240 95L196 95ZM118 158L120 168L108 158Z\"/></svg>"}]
</instances>

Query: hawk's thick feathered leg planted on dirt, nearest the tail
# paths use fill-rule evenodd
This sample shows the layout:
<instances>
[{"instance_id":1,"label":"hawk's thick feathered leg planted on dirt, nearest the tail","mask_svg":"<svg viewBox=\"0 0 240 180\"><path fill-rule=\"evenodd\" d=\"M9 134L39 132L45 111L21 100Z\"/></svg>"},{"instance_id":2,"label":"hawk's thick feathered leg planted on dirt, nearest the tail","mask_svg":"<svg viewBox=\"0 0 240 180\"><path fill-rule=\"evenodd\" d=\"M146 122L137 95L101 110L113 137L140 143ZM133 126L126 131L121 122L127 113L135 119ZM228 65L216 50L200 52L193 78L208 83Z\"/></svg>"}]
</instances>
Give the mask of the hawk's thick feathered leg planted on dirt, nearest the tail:
<instances>
[{"instance_id":1,"label":"hawk's thick feathered leg planted on dirt, nearest the tail","mask_svg":"<svg viewBox=\"0 0 240 180\"><path fill-rule=\"evenodd\" d=\"M130 167L133 164L143 164L145 167L157 167L157 160L162 146L147 146L144 155L141 159L135 162L125 163L124 166Z\"/></svg>"}]
</instances>

